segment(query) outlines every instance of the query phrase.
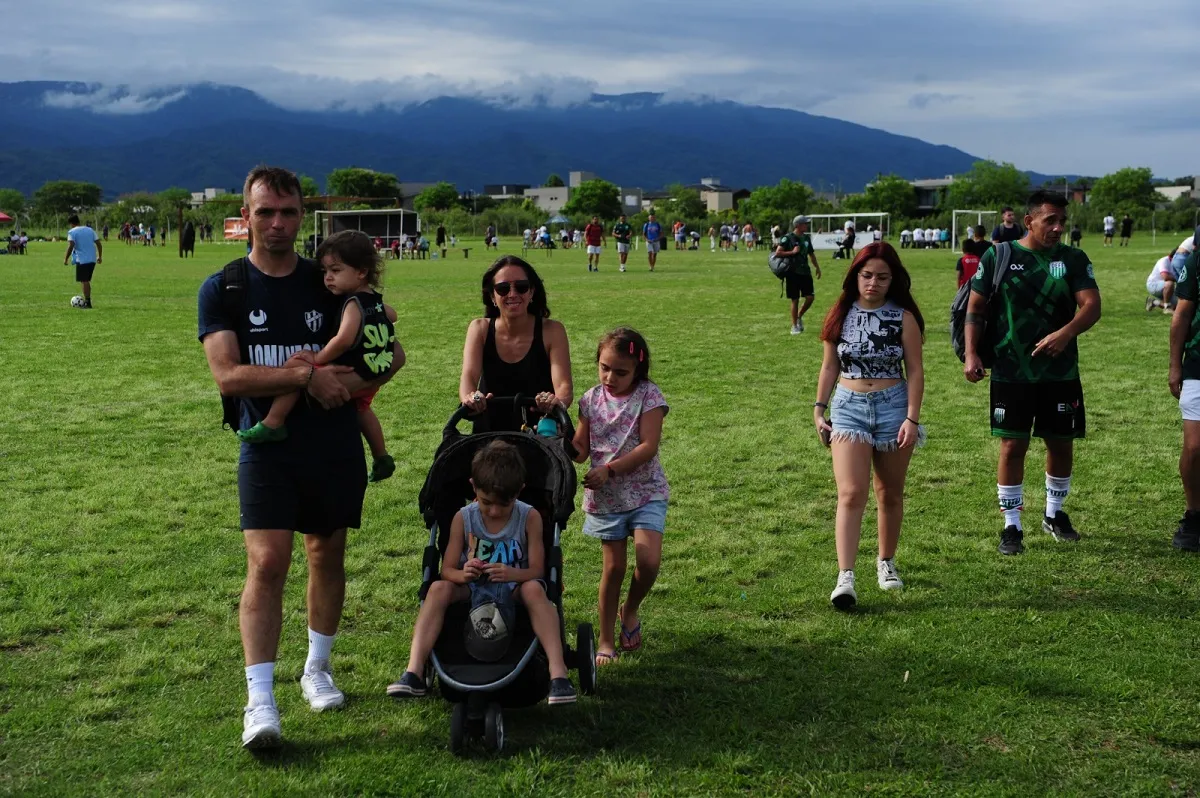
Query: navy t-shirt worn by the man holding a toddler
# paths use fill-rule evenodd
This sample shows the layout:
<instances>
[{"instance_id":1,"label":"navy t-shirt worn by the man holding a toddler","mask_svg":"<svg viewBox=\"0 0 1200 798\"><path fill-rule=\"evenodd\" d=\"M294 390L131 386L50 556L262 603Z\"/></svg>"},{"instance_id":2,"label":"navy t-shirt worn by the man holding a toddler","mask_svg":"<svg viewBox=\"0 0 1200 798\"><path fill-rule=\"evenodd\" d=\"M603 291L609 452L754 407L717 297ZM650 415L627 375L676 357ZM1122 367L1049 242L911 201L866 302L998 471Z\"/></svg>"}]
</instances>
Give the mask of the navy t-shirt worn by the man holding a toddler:
<instances>
[{"instance_id":1,"label":"navy t-shirt worn by the man holding a toddler","mask_svg":"<svg viewBox=\"0 0 1200 798\"><path fill-rule=\"evenodd\" d=\"M248 262L248 259L247 259ZM253 264L247 269L245 318L238 319L241 362L254 366L282 366L300 349L320 352L337 331L340 299L320 282L317 264L298 258L295 270L287 277L269 277ZM221 307L221 272L200 286L199 338L218 330L230 329ZM241 426L248 428L271 409L271 397L240 398ZM288 437L280 443L241 444L239 462L307 460L341 460L362 457L359 422L354 403L347 402L335 410L323 410L319 404L301 400L288 415Z\"/></svg>"}]
</instances>

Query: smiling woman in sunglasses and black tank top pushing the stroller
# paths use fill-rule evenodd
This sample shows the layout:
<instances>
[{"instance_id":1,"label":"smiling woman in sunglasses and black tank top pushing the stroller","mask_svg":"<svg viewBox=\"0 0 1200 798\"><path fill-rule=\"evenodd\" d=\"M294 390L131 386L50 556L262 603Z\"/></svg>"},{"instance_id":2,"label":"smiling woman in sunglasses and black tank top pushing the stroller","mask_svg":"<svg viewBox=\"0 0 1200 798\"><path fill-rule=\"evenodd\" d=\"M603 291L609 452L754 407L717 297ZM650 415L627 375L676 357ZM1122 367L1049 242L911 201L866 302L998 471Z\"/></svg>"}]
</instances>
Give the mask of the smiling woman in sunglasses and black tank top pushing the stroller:
<instances>
[{"instance_id":1,"label":"smiling woman in sunglasses and black tank top pushing the stroller","mask_svg":"<svg viewBox=\"0 0 1200 798\"><path fill-rule=\"evenodd\" d=\"M467 328L458 400L485 415L475 432L520 430L522 414L510 406L490 406L493 396L534 397L542 412L569 408L571 355L566 330L551 320L546 288L533 266L505 256L484 272L485 318ZM530 414L530 422L539 413Z\"/></svg>"}]
</instances>

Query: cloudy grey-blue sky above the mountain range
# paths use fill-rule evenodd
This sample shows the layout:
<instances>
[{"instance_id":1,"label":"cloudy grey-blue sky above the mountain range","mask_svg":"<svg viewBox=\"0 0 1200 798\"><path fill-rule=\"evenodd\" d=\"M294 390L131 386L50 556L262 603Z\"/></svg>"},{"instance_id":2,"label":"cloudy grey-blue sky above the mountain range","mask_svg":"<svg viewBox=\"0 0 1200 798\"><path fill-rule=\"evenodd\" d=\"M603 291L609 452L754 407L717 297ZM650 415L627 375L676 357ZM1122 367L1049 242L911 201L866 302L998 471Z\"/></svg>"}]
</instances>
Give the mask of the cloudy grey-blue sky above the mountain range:
<instances>
[{"instance_id":1,"label":"cloudy grey-blue sky above the mountain range","mask_svg":"<svg viewBox=\"0 0 1200 798\"><path fill-rule=\"evenodd\" d=\"M0 0L0 80L212 80L298 108L665 91L835 116L1049 174L1200 173L1195 0Z\"/></svg>"}]
</instances>

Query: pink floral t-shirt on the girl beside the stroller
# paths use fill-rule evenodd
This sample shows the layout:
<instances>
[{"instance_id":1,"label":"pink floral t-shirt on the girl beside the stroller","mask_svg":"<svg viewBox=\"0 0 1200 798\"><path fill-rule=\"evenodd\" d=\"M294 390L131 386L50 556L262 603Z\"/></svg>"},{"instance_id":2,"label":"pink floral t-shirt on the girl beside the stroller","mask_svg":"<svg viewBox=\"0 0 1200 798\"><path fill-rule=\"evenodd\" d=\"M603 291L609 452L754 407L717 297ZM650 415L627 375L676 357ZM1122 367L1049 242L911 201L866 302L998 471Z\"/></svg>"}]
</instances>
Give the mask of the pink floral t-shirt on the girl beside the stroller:
<instances>
[{"instance_id":1,"label":"pink floral t-shirt on the girl beside the stroller","mask_svg":"<svg viewBox=\"0 0 1200 798\"><path fill-rule=\"evenodd\" d=\"M580 397L580 419L588 422L592 444L592 467L599 468L626 455L642 442L642 414L656 408L668 412L667 401L659 386L643 379L625 396L613 396L604 385L596 385ZM628 474L618 474L604 487L583 491L583 511L593 515L629 512L650 502L666 502L671 496L667 476L658 454L649 462Z\"/></svg>"}]
</instances>

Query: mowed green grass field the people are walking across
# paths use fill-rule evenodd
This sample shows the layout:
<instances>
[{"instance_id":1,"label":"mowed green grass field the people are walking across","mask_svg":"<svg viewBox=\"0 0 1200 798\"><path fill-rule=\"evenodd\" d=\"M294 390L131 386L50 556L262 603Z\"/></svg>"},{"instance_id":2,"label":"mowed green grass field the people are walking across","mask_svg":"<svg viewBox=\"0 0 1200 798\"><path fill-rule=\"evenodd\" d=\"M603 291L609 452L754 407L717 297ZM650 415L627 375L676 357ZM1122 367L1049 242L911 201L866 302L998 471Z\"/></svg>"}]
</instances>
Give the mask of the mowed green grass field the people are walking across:
<instances>
[{"instance_id":1,"label":"mowed green grass field the people are walking across","mask_svg":"<svg viewBox=\"0 0 1200 798\"><path fill-rule=\"evenodd\" d=\"M463 334L480 312L469 260L389 263L408 366L376 408L396 475L367 492L348 551L335 648L344 712L317 715L299 545L277 696L287 744L240 749L236 444L196 341L196 292L238 246L106 247L96 310L76 311L65 244L0 258L0 791L12 793L1109 793L1200 787L1195 595L1174 551L1182 514L1168 319L1142 310L1151 264L1178 238L1128 250L1085 239L1104 317L1081 343L1088 438L1067 509L1076 546L1038 530L1043 449L1026 476L1027 552L996 553L997 446L988 388L961 377L946 330L954 256L905 253L929 320L923 421L898 564L859 607L829 606L835 488L811 426L816 328L788 335L763 253L532 252L570 334L575 391L595 341L630 324L671 403L672 485L644 649L574 707L506 714L505 754L456 758L449 706L397 704L426 539L416 496L456 402ZM707 244L707 241L706 241ZM582 496L580 497L582 499ZM874 505L872 505L874 508ZM869 508L869 517L874 509ZM569 630L594 618L598 545L565 536Z\"/></svg>"}]
</instances>

